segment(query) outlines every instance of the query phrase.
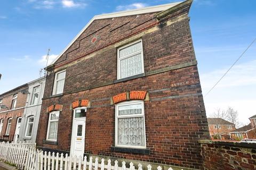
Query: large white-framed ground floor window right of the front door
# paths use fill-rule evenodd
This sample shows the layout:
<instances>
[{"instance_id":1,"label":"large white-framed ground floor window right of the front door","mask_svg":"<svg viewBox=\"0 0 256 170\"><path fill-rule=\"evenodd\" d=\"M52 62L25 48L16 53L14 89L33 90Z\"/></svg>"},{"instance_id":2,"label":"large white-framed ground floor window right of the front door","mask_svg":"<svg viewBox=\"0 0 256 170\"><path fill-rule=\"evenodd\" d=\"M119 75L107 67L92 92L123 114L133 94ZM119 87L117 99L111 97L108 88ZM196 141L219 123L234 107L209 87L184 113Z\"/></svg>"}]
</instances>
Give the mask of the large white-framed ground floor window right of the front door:
<instances>
[{"instance_id":1,"label":"large white-framed ground floor window right of the front door","mask_svg":"<svg viewBox=\"0 0 256 170\"><path fill-rule=\"evenodd\" d=\"M116 105L116 146L146 148L143 101L127 101Z\"/></svg>"}]
</instances>

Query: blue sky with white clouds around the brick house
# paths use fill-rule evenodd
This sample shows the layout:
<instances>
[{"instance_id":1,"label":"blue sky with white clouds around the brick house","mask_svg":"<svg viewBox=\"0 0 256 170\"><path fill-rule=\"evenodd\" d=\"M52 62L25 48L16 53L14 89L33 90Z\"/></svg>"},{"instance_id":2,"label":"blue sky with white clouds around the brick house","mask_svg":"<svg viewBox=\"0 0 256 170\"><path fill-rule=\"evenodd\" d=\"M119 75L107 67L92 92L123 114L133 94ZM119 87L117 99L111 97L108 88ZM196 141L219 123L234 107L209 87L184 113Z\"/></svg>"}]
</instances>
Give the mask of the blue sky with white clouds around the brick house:
<instances>
[{"instance_id":1,"label":"blue sky with white clouds around the brick house","mask_svg":"<svg viewBox=\"0 0 256 170\"><path fill-rule=\"evenodd\" d=\"M94 15L177 1L2 0L0 5L0 94L39 78ZM207 116L233 107L241 125L256 114L256 43L209 93L256 38L256 1L194 0L190 29Z\"/></svg>"}]
</instances>

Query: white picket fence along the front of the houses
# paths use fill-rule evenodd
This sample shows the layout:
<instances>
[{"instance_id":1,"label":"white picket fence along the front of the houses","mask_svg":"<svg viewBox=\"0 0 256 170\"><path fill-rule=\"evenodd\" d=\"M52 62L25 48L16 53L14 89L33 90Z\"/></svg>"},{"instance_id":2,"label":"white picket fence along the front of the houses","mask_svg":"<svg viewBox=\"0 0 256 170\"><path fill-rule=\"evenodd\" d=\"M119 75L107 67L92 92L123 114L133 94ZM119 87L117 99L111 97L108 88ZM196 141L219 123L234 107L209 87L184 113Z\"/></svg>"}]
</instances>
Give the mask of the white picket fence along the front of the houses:
<instances>
[{"instance_id":1,"label":"white picket fence along the front of the houses","mask_svg":"<svg viewBox=\"0 0 256 170\"><path fill-rule=\"evenodd\" d=\"M118 161L115 160L111 164L111 160L100 159L96 157L87 159L82 157L70 157L68 154L63 155L54 152L43 152L36 150L35 143L0 143L0 160L11 163L19 169L25 170L153 170L151 165L142 167L138 164L137 167L131 162L129 167L123 161L122 166L118 166ZM106 164L105 164L106 163ZM158 166L157 170L162 170L162 166ZM173 170L170 167L168 170ZM183 169L181 169L183 170Z\"/></svg>"}]
</instances>

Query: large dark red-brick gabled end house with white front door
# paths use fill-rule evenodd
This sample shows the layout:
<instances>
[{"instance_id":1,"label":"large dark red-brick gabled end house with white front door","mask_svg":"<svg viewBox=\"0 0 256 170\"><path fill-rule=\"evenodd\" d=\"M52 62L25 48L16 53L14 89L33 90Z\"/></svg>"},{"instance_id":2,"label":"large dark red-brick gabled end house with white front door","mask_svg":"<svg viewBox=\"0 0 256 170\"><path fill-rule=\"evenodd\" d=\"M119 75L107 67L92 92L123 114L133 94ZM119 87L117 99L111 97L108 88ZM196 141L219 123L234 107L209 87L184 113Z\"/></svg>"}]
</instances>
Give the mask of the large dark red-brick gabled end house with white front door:
<instances>
[{"instance_id":1,"label":"large dark red-brick gabled end house with white front door","mask_svg":"<svg viewBox=\"0 0 256 170\"><path fill-rule=\"evenodd\" d=\"M94 16L47 67L37 147L203 169L190 5Z\"/></svg>"}]
</instances>

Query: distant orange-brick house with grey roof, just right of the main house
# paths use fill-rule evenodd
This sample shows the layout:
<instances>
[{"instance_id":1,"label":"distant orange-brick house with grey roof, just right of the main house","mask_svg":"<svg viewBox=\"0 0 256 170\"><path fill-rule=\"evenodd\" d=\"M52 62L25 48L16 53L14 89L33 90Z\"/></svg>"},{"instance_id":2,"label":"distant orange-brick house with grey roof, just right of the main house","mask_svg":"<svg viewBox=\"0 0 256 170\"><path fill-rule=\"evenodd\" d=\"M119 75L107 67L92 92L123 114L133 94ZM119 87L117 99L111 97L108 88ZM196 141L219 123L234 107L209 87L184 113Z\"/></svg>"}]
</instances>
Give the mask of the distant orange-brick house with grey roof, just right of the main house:
<instances>
[{"instance_id":1,"label":"distant orange-brick house with grey roof, just right of the main house","mask_svg":"<svg viewBox=\"0 0 256 170\"><path fill-rule=\"evenodd\" d=\"M222 118L207 118L212 139L230 139L229 132L235 130L235 125Z\"/></svg>"}]
</instances>

